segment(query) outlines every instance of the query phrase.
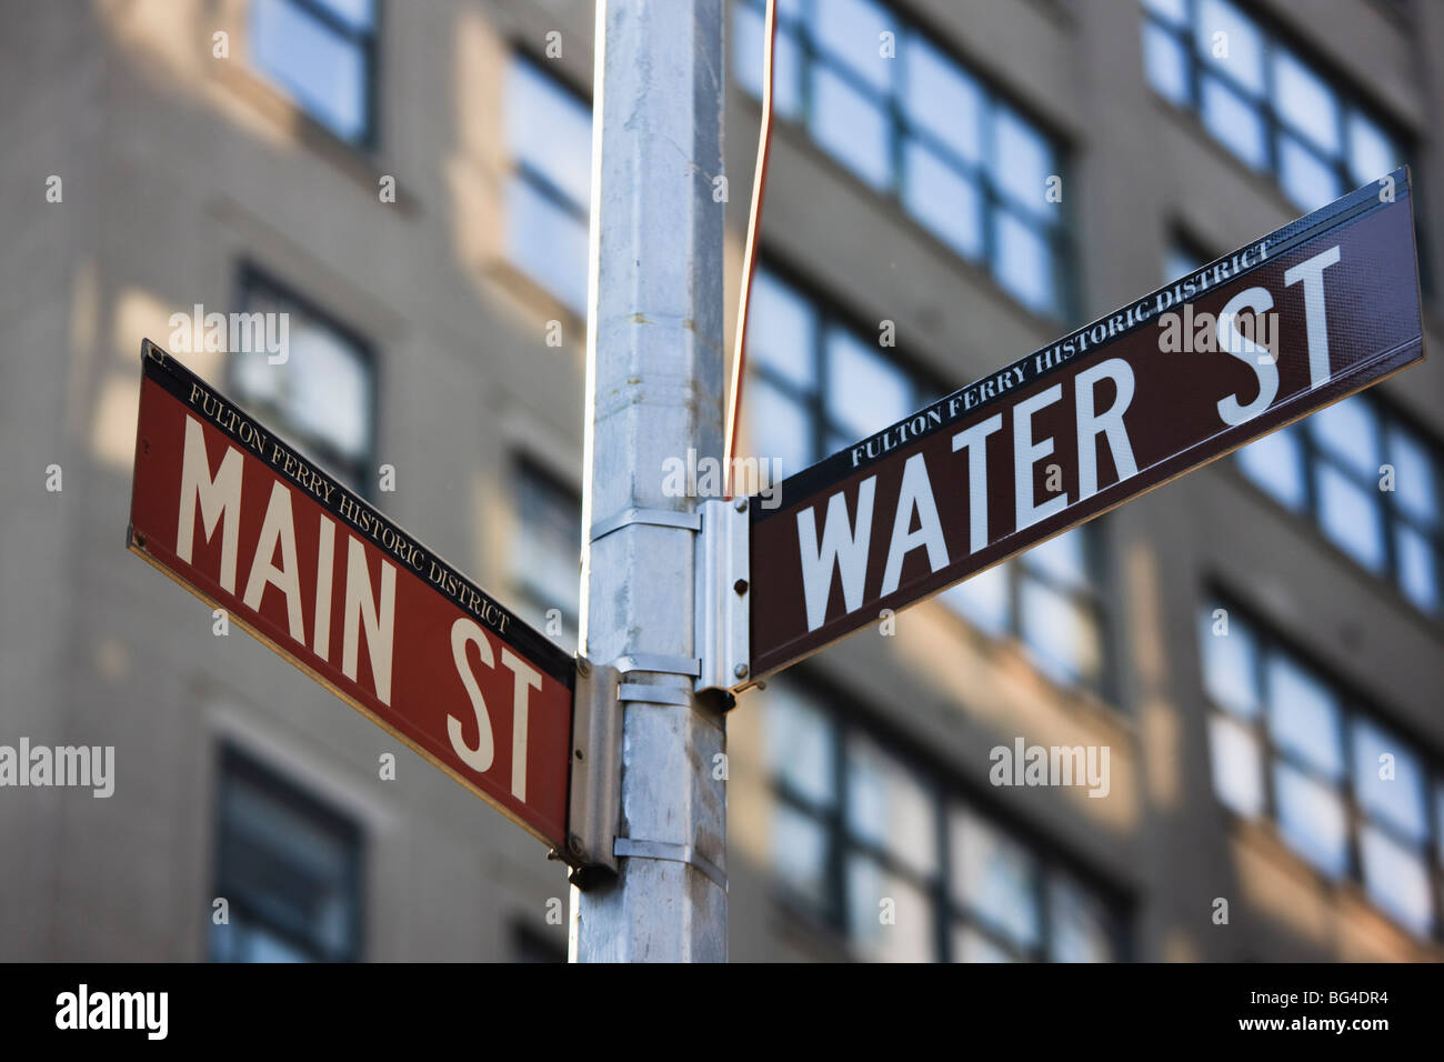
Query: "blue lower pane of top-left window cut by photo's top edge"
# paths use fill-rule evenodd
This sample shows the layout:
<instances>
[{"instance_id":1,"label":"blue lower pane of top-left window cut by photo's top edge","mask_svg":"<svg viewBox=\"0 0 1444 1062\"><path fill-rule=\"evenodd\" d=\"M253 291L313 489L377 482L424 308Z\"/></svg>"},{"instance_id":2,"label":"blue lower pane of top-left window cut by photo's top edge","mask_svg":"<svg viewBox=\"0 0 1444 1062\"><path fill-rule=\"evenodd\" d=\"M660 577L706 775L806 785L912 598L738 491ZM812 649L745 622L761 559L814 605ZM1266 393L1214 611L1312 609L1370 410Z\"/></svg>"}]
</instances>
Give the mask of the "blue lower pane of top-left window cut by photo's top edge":
<instances>
[{"instance_id":1,"label":"blue lower pane of top-left window cut by photo's top edge","mask_svg":"<svg viewBox=\"0 0 1444 1062\"><path fill-rule=\"evenodd\" d=\"M251 56L297 103L345 140L367 131L367 64L361 48L290 0L254 0Z\"/></svg>"}]
</instances>

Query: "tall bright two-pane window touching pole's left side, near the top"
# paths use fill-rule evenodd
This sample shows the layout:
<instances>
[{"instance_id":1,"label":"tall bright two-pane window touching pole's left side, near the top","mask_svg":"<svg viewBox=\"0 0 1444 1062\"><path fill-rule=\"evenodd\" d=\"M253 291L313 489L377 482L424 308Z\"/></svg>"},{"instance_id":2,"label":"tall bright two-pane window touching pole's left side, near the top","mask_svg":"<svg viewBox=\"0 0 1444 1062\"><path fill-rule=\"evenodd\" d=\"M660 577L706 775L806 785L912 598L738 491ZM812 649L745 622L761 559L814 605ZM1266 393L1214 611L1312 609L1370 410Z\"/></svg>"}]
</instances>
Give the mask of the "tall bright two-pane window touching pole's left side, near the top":
<instances>
[{"instance_id":1,"label":"tall bright two-pane window touching pole's left side, near the top","mask_svg":"<svg viewBox=\"0 0 1444 1062\"><path fill-rule=\"evenodd\" d=\"M507 253L527 276L586 315L592 108L529 59L507 81Z\"/></svg>"}]
</instances>

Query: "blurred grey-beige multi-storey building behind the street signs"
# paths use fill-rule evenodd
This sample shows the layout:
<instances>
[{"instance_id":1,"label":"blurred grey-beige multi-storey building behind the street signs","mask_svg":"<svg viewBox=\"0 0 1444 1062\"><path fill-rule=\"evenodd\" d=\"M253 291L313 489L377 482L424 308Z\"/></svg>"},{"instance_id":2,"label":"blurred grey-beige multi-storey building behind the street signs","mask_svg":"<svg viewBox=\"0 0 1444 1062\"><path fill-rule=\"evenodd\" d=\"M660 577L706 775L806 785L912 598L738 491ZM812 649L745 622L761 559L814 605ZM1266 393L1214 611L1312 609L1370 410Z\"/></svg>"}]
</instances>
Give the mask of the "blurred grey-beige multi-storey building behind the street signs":
<instances>
[{"instance_id":1,"label":"blurred grey-beige multi-storey building behind the street signs","mask_svg":"<svg viewBox=\"0 0 1444 1062\"><path fill-rule=\"evenodd\" d=\"M575 647L591 3L0 9L0 743L117 764L0 790L0 958L563 957L536 841L123 533L142 337L283 311L286 366L185 360ZM747 429L787 472L1401 162L1435 354L744 695L731 957L1444 957L1444 6L780 9ZM1019 737L1106 746L1108 796L989 785Z\"/></svg>"}]
</instances>

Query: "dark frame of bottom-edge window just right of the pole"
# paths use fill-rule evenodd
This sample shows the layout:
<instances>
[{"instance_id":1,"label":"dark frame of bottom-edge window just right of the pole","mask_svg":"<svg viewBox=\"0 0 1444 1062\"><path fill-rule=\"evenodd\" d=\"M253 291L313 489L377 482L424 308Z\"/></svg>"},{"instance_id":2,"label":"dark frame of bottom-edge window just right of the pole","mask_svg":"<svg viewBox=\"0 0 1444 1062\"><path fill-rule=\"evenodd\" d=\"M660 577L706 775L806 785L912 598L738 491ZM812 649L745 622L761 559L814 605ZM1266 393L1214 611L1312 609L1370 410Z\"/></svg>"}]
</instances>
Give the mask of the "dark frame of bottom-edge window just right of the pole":
<instances>
[{"instance_id":1,"label":"dark frame of bottom-edge window just right of the pole","mask_svg":"<svg viewBox=\"0 0 1444 1062\"><path fill-rule=\"evenodd\" d=\"M1082 887L1100 906L1106 920L1106 941L1110 949L1108 961L1129 961L1131 936L1128 922L1132 905L1122 889L1108 883L1096 871L1082 865L1074 858L1060 854L1054 841L1040 837L1035 831L1006 813L1006 811L999 809L993 800L988 800L983 795L979 795L970 786L956 779L953 772L939 761L936 756L927 753L915 743L900 738L892 730L879 724L872 712L864 709L856 699L843 694L836 685L819 676L814 668L799 668L796 675L790 675L784 681L794 686L801 699L823 714L827 721L827 761L835 782L835 792L832 806L822 808L787 785L771 767L767 769L767 792L774 806L783 805L796 813L804 815L810 822L823 829L826 842L823 871L826 896L823 897L823 903L820 906L813 905L807 896L799 893L784 878L773 873L777 900L783 906L796 912L804 920L819 923L823 929L835 933L852 957L866 959L866 952L859 948L848 932L848 860L852 855L861 855L875 863L885 873L904 880L927 897L933 919L928 935L933 952L927 961L957 961L956 955L953 955L953 932L956 929L970 929L986 939L988 944L1018 961L1048 962L1053 961L1048 952L1054 945L1048 887L1054 881L1063 881ZM765 725L764 722L764 728ZM849 737L852 735L871 741L885 754L905 764L910 777L915 779L920 789L927 795L933 815L934 852L937 857L931 880L926 880L923 874L900 861L885 848L855 835L849 829L846 821L851 785L848 747ZM980 912L972 910L952 894L953 838L950 825L953 811L957 808L973 813L1027 852L1032 867L1031 902L1038 919L1038 939L1032 946L1017 944L1005 931L989 922Z\"/></svg>"}]
</instances>

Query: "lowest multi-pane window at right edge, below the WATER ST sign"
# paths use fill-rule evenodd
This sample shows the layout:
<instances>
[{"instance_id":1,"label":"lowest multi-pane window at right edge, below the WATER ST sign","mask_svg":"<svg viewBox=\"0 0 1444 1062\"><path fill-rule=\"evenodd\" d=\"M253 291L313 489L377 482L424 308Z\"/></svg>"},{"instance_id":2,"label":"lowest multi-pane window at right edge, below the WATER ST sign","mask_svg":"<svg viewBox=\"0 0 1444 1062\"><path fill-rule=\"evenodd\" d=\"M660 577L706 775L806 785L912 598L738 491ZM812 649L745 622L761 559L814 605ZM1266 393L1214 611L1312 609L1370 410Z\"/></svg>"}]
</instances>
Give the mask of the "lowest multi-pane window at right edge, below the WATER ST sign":
<instances>
[{"instance_id":1,"label":"lowest multi-pane window at right edge, below the WATER ST sign","mask_svg":"<svg viewBox=\"0 0 1444 1062\"><path fill-rule=\"evenodd\" d=\"M1441 764L1239 610L1210 601L1199 637L1219 800L1271 819L1314 868L1360 881L1415 935L1435 933Z\"/></svg>"}]
</instances>

